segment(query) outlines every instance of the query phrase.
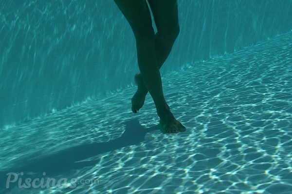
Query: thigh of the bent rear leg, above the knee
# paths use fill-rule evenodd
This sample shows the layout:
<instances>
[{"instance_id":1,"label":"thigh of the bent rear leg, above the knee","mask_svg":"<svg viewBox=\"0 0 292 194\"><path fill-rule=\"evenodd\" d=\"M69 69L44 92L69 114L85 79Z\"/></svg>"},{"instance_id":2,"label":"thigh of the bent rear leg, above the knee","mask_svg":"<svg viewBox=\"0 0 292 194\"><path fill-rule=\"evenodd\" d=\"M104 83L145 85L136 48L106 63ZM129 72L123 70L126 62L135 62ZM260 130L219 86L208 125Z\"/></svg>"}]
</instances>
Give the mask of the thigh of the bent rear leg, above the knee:
<instances>
[{"instance_id":1,"label":"thigh of the bent rear leg, above the knee","mask_svg":"<svg viewBox=\"0 0 292 194\"><path fill-rule=\"evenodd\" d=\"M177 32L180 30L177 0L148 0L160 33Z\"/></svg>"}]
</instances>

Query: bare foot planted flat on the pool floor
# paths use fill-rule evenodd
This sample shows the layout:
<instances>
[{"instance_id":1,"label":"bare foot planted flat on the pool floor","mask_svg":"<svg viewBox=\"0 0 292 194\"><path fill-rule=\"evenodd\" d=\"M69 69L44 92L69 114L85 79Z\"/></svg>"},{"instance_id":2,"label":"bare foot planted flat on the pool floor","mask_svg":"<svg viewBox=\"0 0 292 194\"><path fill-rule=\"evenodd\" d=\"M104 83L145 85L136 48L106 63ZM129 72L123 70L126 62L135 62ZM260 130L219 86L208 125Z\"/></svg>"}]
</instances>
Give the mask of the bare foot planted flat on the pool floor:
<instances>
[{"instance_id":1,"label":"bare foot planted flat on the pool floor","mask_svg":"<svg viewBox=\"0 0 292 194\"><path fill-rule=\"evenodd\" d=\"M176 120L169 109L159 115L161 115L159 125L162 133L177 133L186 130L183 124Z\"/></svg>"}]
</instances>

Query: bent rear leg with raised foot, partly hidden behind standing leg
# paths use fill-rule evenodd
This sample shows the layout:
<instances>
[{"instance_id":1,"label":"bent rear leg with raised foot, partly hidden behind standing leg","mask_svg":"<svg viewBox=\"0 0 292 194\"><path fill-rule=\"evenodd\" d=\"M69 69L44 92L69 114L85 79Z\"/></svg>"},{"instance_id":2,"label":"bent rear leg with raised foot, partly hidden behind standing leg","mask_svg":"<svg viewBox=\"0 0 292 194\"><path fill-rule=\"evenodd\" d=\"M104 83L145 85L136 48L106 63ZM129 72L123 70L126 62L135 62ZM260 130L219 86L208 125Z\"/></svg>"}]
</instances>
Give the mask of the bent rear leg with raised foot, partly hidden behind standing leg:
<instances>
[{"instance_id":1,"label":"bent rear leg with raised foot, partly hidden behind standing leg","mask_svg":"<svg viewBox=\"0 0 292 194\"><path fill-rule=\"evenodd\" d=\"M151 7L157 33L155 34L155 53L160 69L167 59L180 32L177 0L148 0ZM135 75L138 90L132 98L132 111L137 113L144 105L148 90L141 73Z\"/></svg>"}]
</instances>

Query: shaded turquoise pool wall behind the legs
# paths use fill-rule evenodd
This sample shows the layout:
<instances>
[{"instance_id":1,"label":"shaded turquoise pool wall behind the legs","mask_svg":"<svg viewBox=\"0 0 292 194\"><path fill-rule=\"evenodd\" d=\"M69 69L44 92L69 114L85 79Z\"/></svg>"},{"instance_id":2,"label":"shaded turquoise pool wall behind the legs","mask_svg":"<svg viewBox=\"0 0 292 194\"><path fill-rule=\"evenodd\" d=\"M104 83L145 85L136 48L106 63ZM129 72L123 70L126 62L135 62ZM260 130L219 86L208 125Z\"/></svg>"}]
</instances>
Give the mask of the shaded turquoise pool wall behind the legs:
<instances>
[{"instance_id":1,"label":"shaded turquoise pool wall behind the legs","mask_svg":"<svg viewBox=\"0 0 292 194\"><path fill-rule=\"evenodd\" d=\"M292 30L292 0L178 3L181 32L162 74ZM0 128L130 86L138 71L113 0L0 1Z\"/></svg>"}]
</instances>

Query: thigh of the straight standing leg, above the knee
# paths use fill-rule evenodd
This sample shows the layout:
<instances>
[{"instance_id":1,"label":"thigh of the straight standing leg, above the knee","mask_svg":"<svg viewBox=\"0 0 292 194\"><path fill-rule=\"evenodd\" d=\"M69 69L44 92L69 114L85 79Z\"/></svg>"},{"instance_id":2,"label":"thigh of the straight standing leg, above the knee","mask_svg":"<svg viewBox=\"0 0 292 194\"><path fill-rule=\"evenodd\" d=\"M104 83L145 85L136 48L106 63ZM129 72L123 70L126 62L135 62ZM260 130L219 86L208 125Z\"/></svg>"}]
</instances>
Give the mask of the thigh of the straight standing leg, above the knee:
<instances>
[{"instance_id":1,"label":"thigh of the straight standing leg, above the knee","mask_svg":"<svg viewBox=\"0 0 292 194\"><path fill-rule=\"evenodd\" d=\"M151 15L146 0L114 0L128 20L136 38L154 33ZM151 34L152 35L152 34Z\"/></svg>"}]
</instances>

